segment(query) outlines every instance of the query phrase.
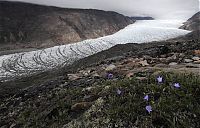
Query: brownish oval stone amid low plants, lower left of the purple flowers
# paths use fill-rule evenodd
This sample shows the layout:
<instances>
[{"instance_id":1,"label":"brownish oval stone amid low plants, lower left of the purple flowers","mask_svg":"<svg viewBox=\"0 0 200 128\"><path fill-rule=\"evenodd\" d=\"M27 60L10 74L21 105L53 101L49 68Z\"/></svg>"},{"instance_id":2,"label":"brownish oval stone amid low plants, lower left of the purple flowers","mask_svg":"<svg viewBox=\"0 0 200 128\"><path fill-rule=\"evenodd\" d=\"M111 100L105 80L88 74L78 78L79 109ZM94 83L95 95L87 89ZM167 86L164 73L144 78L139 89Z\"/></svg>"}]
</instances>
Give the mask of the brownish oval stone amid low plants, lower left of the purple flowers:
<instances>
[{"instance_id":1,"label":"brownish oval stone amid low plants, lower left of the purple flowers","mask_svg":"<svg viewBox=\"0 0 200 128\"><path fill-rule=\"evenodd\" d=\"M91 105L92 105L91 102L80 102L80 103L74 104L71 107L71 110L72 111L81 111L81 110L88 109Z\"/></svg>"}]
</instances>

